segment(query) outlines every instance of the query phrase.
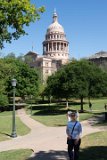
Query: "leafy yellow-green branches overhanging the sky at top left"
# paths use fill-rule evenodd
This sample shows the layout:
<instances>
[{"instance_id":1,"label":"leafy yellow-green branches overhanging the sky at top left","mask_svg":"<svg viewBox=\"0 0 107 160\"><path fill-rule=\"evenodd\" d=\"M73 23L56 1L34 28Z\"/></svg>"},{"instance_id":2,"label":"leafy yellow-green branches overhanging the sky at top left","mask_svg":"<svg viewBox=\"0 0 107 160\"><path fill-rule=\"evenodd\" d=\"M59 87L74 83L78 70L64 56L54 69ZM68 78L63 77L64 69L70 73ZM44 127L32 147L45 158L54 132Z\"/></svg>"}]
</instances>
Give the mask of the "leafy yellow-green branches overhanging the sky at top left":
<instances>
[{"instance_id":1,"label":"leafy yellow-green branches overhanging the sky at top left","mask_svg":"<svg viewBox=\"0 0 107 160\"><path fill-rule=\"evenodd\" d=\"M0 0L0 48L25 35L24 26L40 19L44 7L36 8L30 0Z\"/></svg>"}]
</instances>

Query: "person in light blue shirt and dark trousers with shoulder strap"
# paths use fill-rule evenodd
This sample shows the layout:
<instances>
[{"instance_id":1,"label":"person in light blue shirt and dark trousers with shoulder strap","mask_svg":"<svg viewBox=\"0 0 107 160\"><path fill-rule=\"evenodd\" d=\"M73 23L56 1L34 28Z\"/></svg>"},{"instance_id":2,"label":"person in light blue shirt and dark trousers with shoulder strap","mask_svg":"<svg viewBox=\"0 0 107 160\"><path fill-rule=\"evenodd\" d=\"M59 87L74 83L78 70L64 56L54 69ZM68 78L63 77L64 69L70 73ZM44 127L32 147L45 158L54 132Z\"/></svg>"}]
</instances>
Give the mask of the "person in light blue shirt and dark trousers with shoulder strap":
<instances>
[{"instance_id":1,"label":"person in light blue shirt and dark trousers with shoulder strap","mask_svg":"<svg viewBox=\"0 0 107 160\"><path fill-rule=\"evenodd\" d=\"M79 148L81 144L82 126L81 123L77 121L75 112L72 112L70 114L70 117L71 121L67 123L66 127L68 155L70 160L78 160Z\"/></svg>"}]
</instances>

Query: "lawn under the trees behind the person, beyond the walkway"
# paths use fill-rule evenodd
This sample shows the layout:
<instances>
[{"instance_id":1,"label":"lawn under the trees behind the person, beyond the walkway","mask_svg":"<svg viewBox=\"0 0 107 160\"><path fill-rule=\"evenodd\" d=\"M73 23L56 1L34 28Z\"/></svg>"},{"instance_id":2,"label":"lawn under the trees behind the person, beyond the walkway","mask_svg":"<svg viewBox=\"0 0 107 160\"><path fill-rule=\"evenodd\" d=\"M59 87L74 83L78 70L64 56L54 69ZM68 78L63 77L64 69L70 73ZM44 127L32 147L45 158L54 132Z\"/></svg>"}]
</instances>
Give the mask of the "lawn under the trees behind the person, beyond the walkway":
<instances>
[{"instance_id":1,"label":"lawn under the trees behind the person, beyond the walkway","mask_svg":"<svg viewBox=\"0 0 107 160\"><path fill-rule=\"evenodd\" d=\"M84 109L85 113L80 113L80 121L87 120L96 114L104 112L104 104L107 103L107 99L92 99L92 113L89 112L88 100L85 100ZM32 106L32 118L43 123L46 126L65 126L67 123L65 104L43 104ZM70 110L79 110L80 103L75 100L69 103ZM30 113L30 110L27 111Z\"/></svg>"}]
</instances>

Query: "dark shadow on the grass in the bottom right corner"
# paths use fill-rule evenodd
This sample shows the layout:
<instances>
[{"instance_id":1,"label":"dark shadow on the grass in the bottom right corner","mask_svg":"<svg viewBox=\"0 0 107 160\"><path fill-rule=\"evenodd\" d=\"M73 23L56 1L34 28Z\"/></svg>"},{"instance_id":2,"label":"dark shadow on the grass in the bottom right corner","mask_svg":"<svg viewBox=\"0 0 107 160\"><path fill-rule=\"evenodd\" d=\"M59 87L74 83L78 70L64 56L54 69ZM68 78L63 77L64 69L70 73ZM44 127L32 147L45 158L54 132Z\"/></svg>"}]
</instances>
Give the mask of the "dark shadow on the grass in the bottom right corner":
<instances>
[{"instance_id":1,"label":"dark shadow on the grass in the bottom right corner","mask_svg":"<svg viewBox=\"0 0 107 160\"><path fill-rule=\"evenodd\" d=\"M79 160L107 160L107 146L91 146L82 149Z\"/></svg>"}]
</instances>

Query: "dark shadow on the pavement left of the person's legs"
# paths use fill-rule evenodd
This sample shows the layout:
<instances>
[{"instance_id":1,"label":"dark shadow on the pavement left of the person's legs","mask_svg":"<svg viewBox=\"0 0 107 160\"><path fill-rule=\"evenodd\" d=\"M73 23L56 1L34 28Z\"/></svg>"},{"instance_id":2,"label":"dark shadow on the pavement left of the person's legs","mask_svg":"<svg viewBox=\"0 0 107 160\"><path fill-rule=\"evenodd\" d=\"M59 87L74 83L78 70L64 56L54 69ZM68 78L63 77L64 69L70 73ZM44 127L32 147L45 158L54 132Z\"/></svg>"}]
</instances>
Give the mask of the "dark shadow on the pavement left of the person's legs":
<instances>
[{"instance_id":1,"label":"dark shadow on the pavement left of the person's legs","mask_svg":"<svg viewBox=\"0 0 107 160\"><path fill-rule=\"evenodd\" d=\"M34 157L28 158L26 160L67 160L68 154L66 151L53 151L49 152L40 151L35 154Z\"/></svg>"}]
</instances>

